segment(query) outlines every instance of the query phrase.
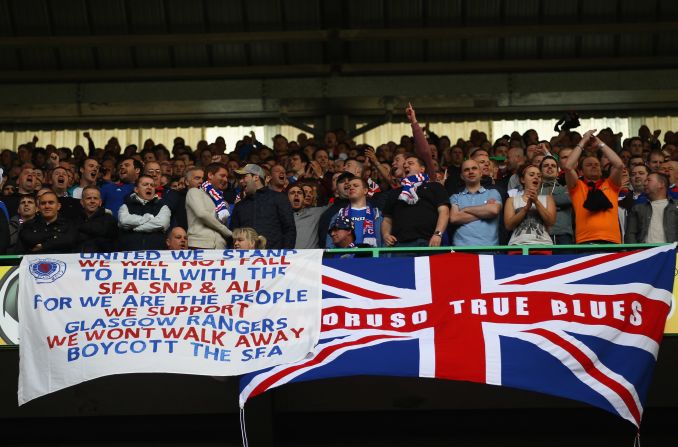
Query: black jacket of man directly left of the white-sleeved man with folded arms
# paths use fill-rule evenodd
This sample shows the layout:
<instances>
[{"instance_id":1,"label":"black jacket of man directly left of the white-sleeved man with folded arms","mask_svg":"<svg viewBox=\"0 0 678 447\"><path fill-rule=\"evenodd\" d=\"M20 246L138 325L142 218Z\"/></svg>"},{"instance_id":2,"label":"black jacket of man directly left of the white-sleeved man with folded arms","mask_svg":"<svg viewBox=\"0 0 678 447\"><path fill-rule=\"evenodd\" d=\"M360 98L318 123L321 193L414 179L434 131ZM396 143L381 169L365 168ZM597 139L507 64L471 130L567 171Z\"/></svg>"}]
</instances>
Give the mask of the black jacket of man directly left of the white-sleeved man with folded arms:
<instances>
[{"instance_id":1,"label":"black jacket of man directly left of the white-sleeved man with folded arms","mask_svg":"<svg viewBox=\"0 0 678 447\"><path fill-rule=\"evenodd\" d=\"M78 225L80 253L104 253L117 249L118 222L99 207L90 217L82 213Z\"/></svg>"}]
</instances>

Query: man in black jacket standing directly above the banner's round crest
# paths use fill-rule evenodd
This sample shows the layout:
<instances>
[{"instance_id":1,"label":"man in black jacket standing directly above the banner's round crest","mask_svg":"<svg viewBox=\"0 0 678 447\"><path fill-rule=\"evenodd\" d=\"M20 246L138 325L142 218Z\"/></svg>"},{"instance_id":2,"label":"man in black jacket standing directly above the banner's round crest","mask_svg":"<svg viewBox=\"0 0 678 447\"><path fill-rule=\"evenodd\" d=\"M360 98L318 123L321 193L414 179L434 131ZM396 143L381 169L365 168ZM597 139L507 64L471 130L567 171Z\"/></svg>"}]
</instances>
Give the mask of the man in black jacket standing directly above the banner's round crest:
<instances>
[{"instance_id":1,"label":"man in black jacket standing directly above the banner's round crest","mask_svg":"<svg viewBox=\"0 0 678 447\"><path fill-rule=\"evenodd\" d=\"M19 231L20 253L71 253L77 248L73 222L59 216L61 204L53 191L38 197L40 214L25 222Z\"/></svg>"}]
</instances>

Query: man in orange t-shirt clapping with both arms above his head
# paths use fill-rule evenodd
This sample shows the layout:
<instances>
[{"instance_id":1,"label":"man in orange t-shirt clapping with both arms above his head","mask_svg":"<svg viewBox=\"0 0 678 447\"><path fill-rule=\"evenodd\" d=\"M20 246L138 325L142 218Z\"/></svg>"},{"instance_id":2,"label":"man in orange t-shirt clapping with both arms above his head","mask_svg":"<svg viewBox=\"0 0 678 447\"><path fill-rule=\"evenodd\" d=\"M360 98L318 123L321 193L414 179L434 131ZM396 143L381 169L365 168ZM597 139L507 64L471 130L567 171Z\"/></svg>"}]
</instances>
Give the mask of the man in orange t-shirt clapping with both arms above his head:
<instances>
[{"instance_id":1,"label":"man in orange t-shirt clapping with both arms above his head","mask_svg":"<svg viewBox=\"0 0 678 447\"><path fill-rule=\"evenodd\" d=\"M620 244L617 202L624 162L594 133L595 130L589 130L582 136L565 164L565 181L575 214L575 241L577 244ZM602 151L610 160L608 178L603 178L597 157L581 157L584 150ZM575 169L577 164L581 168L581 178Z\"/></svg>"}]
</instances>

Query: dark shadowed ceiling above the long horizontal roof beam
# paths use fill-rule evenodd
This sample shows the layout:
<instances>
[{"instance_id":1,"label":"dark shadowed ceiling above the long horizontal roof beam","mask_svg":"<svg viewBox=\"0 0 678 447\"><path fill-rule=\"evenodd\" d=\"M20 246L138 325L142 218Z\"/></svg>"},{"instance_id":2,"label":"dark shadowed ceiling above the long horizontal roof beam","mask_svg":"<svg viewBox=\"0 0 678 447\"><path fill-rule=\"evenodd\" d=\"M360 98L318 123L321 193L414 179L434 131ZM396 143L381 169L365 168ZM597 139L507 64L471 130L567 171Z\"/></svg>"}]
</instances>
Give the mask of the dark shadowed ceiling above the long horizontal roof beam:
<instances>
[{"instance_id":1,"label":"dark shadowed ceiling above the long horizontal roof beam","mask_svg":"<svg viewBox=\"0 0 678 447\"><path fill-rule=\"evenodd\" d=\"M0 81L661 68L675 0L0 0Z\"/></svg>"}]
</instances>

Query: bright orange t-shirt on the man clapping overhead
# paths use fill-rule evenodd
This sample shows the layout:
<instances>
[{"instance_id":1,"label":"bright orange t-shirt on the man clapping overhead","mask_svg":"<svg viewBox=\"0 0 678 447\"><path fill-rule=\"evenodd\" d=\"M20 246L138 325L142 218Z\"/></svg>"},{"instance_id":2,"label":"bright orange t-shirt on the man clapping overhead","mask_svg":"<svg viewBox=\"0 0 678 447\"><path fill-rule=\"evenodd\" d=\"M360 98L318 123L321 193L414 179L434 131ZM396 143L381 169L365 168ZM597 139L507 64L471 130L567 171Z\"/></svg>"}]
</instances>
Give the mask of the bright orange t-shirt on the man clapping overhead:
<instances>
[{"instance_id":1,"label":"bright orange t-shirt on the man clapping overhead","mask_svg":"<svg viewBox=\"0 0 678 447\"><path fill-rule=\"evenodd\" d=\"M621 244L618 204L620 188L610 179L605 179L598 189L605 194L612 208L596 212L584 208L589 188L583 180L579 180L577 186L569 190L576 225L575 240L578 244L597 240Z\"/></svg>"}]
</instances>

